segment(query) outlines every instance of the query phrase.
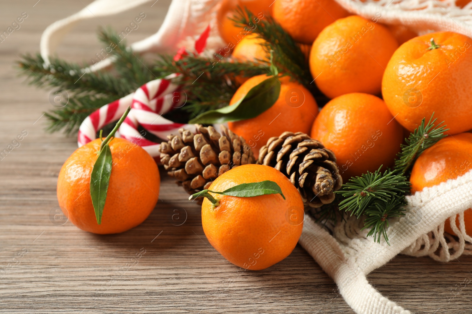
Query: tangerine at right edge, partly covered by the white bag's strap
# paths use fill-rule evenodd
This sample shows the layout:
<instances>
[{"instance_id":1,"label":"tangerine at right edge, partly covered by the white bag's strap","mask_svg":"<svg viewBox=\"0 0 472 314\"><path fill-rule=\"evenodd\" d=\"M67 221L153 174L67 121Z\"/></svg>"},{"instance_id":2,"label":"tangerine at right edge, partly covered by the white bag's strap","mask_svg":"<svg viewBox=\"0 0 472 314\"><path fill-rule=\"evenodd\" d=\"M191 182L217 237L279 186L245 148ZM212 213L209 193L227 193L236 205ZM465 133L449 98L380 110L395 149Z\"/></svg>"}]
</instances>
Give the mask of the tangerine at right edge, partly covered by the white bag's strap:
<instances>
[{"instance_id":1,"label":"tangerine at right edge, partly covered by the white bag's strap","mask_svg":"<svg viewBox=\"0 0 472 314\"><path fill-rule=\"evenodd\" d=\"M426 149L415 161L410 176L411 192L438 185L464 175L472 169L472 134L461 133L445 137ZM472 209L464 211L465 231L472 236ZM459 217L456 218L459 226ZM449 219L444 231L455 234Z\"/></svg>"}]
</instances>

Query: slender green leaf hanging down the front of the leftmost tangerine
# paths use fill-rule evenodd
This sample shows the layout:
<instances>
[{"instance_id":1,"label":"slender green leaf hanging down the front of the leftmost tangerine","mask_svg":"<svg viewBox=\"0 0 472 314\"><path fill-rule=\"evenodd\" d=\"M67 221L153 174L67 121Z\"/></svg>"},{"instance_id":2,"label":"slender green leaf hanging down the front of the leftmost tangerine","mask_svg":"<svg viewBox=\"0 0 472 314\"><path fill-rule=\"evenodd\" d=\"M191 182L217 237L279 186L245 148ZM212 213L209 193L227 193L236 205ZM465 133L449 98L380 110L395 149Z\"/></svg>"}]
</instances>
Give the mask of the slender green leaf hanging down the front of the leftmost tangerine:
<instances>
[{"instance_id":1,"label":"slender green leaf hanging down the front of the leftmost tangerine","mask_svg":"<svg viewBox=\"0 0 472 314\"><path fill-rule=\"evenodd\" d=\"M95 217L97 217L99 225L101 224L101 214L107 199L111 164L110 146L105 145L93 165L92 175L90 176L90 196L92 196L93 209L95 210Z\"/></svg>"}]
</instances>

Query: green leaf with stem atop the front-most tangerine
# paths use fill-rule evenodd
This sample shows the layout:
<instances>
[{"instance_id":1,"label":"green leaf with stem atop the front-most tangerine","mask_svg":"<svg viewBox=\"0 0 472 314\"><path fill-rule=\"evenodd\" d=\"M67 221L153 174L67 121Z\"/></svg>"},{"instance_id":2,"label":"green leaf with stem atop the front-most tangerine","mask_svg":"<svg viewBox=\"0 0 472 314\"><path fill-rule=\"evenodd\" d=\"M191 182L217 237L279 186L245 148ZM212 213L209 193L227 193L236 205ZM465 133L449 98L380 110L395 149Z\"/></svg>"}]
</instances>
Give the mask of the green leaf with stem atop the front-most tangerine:
<instances>
[{"instance_id":1,"label":"green leaf with stem atop the front-most tangerine","mask_svg":"<svg viewBox=\"0 0 472 314\"><path fill-rule=\"evenodd\" d=\"M266 194L280 194L282 198L285 200L285 196L282 193L282 189L278 186L277 183L274 181L266 180L261 182L253 182L253 183L242 183L240 185L235 185L230 187L223 192L215 192L210 190L203 190L193 195L190 195L188 198L189 200L196 199L198 197L206 197L208 198L214 206L219 205L219 201L216 200L211 196L210 193L220 194L220 195L228 195L228 196L237 196L237 197L254 197Z\"/></svg>"}]
</instances>

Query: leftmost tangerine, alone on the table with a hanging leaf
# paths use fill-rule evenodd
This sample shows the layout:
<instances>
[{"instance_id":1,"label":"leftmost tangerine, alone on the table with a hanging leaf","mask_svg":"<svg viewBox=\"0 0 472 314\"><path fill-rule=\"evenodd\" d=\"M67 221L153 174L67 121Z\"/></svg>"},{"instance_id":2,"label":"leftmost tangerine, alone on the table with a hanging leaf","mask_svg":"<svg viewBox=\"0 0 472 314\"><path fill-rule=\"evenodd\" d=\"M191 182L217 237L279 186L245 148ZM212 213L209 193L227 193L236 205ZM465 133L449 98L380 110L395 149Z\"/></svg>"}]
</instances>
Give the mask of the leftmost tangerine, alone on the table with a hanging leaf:
<instances>
[{"instance_id":1,"label":"leftmost tangerine, alone on the table with a hanging leaf","mask_svg":"<svg viewBox=\"0 0 472 314\"><path fill-rule=\"evenodd\" d=\"M160 177L156 162L143 148L122 138L110 142L112 167L101 224L97 224L90 176L101 145L99 138L76 149L59 172L59 206L82 230L120 233L141 224L151 214L159 195Z\"/></svg>"}]
</instances>

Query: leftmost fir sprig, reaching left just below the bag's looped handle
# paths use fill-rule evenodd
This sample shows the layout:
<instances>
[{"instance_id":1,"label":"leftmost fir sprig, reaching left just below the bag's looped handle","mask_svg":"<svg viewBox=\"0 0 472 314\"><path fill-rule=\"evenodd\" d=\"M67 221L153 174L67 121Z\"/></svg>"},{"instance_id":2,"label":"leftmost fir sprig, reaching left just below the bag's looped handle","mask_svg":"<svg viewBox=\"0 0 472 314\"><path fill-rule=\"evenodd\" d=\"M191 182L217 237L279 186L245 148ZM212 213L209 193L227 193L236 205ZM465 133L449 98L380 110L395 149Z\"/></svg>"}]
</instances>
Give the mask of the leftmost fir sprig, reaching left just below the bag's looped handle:
<instances>
[{"instance_id":1,"label":"leftmost fir sprig, reaching left just below the bag's looped handle","mask_svg":"<svg viewBox=\"0 0 472 314\"><path fill-rule=\"evenodd\" d=\"M51 65L46 67L42 56L24 55L19 62L20 73L29 79L29 83L44 87L50 86L74 93L98 93L113 95L117 98L126 96L133 91L122 78L116 78L109 72L84 73L82 69L88 64L69 63L51 57Z\"/></svg>"}]
</instances>

